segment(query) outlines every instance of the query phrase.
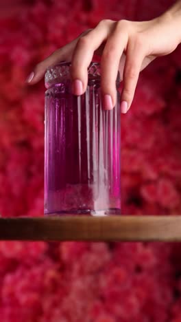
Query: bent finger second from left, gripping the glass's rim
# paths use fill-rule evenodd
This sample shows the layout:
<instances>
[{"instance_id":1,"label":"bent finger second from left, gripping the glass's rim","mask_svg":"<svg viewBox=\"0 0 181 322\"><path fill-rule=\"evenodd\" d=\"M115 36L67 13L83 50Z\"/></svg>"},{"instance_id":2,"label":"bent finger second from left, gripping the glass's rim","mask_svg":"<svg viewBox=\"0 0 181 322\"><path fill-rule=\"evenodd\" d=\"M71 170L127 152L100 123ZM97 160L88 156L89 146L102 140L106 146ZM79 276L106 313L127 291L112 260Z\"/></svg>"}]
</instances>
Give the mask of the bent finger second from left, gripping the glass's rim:
<instances>
[{"instance_id":1,"label":"bent finger second from left, gripping the glass's rim","mask_svg":"<svg viewBox=\"0 0 181 322\"><path fill-rule=\"evenodd\" d=\"M88 66L94 52L108 38L110 21L101 21L97 27L82 36L75 46L71 60L72 91L75 95L82 95L88 83Z\"/></svg>"}]
</instances>

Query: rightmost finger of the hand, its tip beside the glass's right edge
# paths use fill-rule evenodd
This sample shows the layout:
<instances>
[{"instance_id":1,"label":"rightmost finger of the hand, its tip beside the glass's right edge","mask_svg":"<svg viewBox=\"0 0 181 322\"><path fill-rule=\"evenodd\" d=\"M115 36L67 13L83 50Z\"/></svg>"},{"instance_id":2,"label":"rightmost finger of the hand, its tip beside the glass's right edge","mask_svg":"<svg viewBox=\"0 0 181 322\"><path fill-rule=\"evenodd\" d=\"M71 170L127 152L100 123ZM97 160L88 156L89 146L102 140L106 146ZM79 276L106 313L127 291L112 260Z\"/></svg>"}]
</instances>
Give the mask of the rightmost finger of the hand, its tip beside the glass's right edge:
<instances>
[{"instance_id":1,"label":"rightmost finger of the hand, its tip beside the glass's right edge","mask_svg":"<svg viewBox=\"0 0 181 322\"><path fill-rule=\"evenodd\" d=\"M140 43L137 41L128 42L123 71L123 92L121 94L122 113L126 113L132 104L144 56L143 46Z\"/></svg>"}]
</instances>

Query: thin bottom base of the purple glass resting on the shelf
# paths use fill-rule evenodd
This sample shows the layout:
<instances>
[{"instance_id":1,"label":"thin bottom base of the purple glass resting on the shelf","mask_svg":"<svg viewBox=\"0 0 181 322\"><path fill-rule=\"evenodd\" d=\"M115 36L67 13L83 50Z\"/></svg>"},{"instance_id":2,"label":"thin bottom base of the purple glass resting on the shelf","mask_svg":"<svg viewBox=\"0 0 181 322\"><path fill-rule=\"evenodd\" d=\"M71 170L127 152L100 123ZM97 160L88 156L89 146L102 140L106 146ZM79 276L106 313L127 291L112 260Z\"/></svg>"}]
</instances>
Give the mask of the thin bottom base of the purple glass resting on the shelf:
<instances>
[{"instance_id":1,"label":"thin bottom base of the purple glass resting on the shelf","mask_svg":"<svg viewBox=\"0 0 181 322\"><path fill-rule=\"evenodd\" d=\"M121 215L119 208L109 208L106 210L93 210L93 209L70 209L69 211L53 211L45 212L45 216L62 216L62 215L90 215L90 216L110 216L110 215Z\"/></svg>"}]
</instances>

